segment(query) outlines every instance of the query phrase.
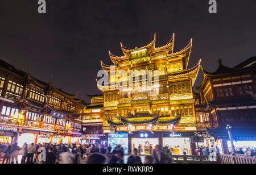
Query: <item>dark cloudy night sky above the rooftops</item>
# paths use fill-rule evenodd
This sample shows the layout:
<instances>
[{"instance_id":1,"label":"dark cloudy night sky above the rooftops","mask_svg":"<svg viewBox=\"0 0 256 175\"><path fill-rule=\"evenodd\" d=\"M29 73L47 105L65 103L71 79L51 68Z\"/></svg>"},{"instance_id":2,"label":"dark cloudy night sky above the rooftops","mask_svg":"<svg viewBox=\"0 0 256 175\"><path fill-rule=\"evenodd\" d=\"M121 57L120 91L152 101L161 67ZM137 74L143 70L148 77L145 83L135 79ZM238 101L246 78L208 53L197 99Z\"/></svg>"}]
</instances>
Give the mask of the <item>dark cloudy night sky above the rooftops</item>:
<instances>
[{"instance_id":1,"label":"dark cloudy night sky above the rooftops","mask_svg":"<svg viewBox=\"0 0 256 175\"><path fill-rule=\"evenodd\" d=\"M255 0L217 0L217 14L208 0L46 0L47 14L37 2L0 1L0 59L22 70L31 64L43 81L53 74L56 87L80 96L99 93L95 79L100 60L112 63L109 50L121 56L120 41L141 47L154 33L162 46L175 32L175 52L193 38L189 68L203 59L213 72L218 59L234 66L256 56Z\"/></svg>"}]
</instances>

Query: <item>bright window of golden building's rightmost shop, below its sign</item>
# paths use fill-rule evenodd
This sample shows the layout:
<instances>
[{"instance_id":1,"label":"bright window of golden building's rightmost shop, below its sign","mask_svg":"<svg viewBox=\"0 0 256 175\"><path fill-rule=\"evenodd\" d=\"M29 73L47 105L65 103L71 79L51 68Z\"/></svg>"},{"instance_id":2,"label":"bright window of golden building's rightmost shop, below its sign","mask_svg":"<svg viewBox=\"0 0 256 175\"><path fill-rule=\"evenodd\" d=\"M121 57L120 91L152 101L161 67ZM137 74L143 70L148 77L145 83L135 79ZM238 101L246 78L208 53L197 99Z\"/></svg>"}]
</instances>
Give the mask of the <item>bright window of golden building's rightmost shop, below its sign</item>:
<instances>
[{"instance_id":1,"label":"bright window of golden building's rightmost shop, below its sign","mask_svg":"<svg viewBox=\"0 0 256 175\"><path fill-rule=\"evenodd\" d=\"M192 155L191 141L189 138L163 138L164 147L168 147L173 155Z\"/></svg>"}]
</instances>

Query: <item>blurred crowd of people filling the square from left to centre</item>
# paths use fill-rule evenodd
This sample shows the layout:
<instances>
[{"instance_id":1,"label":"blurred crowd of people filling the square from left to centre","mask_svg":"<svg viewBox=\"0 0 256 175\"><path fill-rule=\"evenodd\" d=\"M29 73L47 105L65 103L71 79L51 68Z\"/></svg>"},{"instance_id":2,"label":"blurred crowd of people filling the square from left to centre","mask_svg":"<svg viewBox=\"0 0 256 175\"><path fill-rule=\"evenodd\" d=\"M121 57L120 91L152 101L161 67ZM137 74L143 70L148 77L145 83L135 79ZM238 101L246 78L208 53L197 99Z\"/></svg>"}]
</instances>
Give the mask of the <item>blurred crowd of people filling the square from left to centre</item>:
<instances>
[{"instance_id":1,"label":"blurred crowd of people filling the square from left to centre","mask_svg":"<svg viewBox=\"0 0 256 175\"><path fill-rule=\"evenodd\" d=\"M18 156L22 156L20 162ZM86 164L170 164L171 153L156 145L152 155L139 156L138 149L134 148L131 156L124 159L122 145L105 147L104 145L85 144L27 144L19 147L17 143L0 143L2 164L80 164L85 159Z\"/></svg>"}]
</instances>

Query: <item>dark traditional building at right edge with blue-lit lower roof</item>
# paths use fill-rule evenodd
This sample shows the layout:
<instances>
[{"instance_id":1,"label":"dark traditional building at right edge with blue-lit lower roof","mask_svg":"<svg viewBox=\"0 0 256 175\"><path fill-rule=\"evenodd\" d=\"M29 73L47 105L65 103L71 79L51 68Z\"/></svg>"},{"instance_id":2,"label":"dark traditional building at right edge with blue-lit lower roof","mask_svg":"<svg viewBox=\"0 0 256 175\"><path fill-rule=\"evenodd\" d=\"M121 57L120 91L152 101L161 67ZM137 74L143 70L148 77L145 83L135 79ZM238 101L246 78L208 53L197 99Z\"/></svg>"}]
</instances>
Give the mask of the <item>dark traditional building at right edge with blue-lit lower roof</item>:
<instances>
[{"instance_id":1,"label":"dark traditional building at right edge with blue-lit lower roof","mask_svg":"<svg viewBox=\"0 0 256 175\"><path fill-rule=\"evenodd\" d=\"M196 99L196 112L203 116L204 122L210 122L213 128L207 127L208 134L224 153L231 149L227 124L232 126L236 147L256 146L255 62L256 57L251 57L230 68L218 60L215 72L202 68L204 81L197 87L200 93Z\"/></svg>"}]
</instances>

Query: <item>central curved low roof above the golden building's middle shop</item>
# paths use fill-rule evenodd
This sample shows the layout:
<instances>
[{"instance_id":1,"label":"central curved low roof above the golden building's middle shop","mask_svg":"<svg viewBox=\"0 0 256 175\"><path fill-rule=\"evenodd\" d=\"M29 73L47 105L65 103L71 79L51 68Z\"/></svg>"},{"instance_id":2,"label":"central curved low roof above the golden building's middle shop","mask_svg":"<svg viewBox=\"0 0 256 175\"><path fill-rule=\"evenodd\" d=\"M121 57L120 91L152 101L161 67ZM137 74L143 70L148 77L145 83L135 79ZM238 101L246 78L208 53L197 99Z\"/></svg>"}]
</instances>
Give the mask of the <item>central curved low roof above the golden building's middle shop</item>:
<instances>
[{"instance_id":1,"label":"central curved low roof above the golden building's middle shop","mask_svg":"<svg viewBox=\"0 0 256 175\"><path fill-rule=\"evenodd\" d=\"M159 111L160 113L160 111ZM120 115L120 119L122 123L125 124L154 124L158 122L159 120L159 113L154 115L154 116L149 116L149 117L138 117L138 118L124 118L123 116Z\"/></svg>"}]
</instances>

